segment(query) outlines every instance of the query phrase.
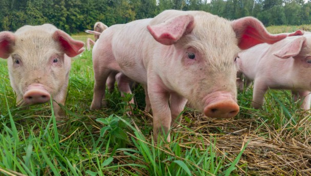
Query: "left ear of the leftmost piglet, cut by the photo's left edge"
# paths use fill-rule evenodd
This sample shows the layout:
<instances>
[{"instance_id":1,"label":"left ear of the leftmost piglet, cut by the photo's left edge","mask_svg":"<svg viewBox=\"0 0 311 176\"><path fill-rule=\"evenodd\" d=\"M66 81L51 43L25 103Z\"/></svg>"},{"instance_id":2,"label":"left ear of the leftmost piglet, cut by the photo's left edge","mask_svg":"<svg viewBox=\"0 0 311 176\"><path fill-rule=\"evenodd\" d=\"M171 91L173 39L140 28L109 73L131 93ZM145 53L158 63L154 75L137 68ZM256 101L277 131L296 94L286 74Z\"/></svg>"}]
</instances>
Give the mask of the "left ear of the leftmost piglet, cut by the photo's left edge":
<instances>
[{"instance_id":1,"label":"left ear of the leftmost piglet, cut by the photo's left edge","mask_svg":"<svg viewBox=\"0 0 311 176\"><path fill-rule=\"evenodd\" d=\"M8 58L12 53L15 43L15 36L12 32L0 32L0 57Z\"/></svg>"}]
</instances>

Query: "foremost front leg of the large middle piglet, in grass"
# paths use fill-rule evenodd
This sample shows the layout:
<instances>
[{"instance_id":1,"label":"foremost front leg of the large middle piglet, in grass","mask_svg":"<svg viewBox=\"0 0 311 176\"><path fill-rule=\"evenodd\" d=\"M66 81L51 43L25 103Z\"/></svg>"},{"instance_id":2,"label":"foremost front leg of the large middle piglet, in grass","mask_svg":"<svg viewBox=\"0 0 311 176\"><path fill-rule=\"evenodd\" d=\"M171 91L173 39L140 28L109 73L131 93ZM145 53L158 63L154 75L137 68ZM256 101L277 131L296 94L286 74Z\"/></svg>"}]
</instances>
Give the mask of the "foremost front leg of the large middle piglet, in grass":
<instances>
[{"instance_id":1,"label":"foremost front leg of the large middle piglet, in grass","mask_svg":"<svg viewBox=\"0 0 311 176\"><path fill-rule=\"evenodd\" d=\"M148 95L153 114L153 139L157 141L160 133L164 136L167 135L166 140L169 142L171 140L168 134L171 126L171 111L168 104L169 93L163 88L162 81L156 79L153 78L152 81L148 79Z\"/></svg>"}]
</instances>

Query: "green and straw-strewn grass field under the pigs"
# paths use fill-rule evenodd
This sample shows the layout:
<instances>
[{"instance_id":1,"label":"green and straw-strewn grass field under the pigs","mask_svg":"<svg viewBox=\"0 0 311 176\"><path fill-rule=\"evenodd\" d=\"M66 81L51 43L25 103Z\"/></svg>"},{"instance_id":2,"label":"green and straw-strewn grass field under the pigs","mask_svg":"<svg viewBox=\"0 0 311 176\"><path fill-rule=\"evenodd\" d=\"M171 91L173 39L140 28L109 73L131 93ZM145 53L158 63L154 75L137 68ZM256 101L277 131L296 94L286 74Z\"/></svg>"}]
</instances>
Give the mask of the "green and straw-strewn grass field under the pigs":
<instances>
[{"instance_id":1,"label":"green and straw-strewn grass field under the pigs","mask_svg":"<svg viewBox=\"0 0 311 176\"><path fill-rule=\"evenodd\" d=\"M281 32L292 32L283 29ZM268 30L272 30L268 28ZM272 32L273 33L273 32ZM92 35L74 38L85 41ZM124 115L117 89L107 108L90 111L92 52L73 58L69 122L57 126L51 103L15 106L6 60L0 60L0 174L5 175L310 175L310 116L288 91L269 91L263 109L252 109L252 89L238 93L234 119L211 119L190 107L171 142L152 138L152 115L144 114L144 91ZM126 97L125 101L130 97Z\"/></svg>"}]
</instances>

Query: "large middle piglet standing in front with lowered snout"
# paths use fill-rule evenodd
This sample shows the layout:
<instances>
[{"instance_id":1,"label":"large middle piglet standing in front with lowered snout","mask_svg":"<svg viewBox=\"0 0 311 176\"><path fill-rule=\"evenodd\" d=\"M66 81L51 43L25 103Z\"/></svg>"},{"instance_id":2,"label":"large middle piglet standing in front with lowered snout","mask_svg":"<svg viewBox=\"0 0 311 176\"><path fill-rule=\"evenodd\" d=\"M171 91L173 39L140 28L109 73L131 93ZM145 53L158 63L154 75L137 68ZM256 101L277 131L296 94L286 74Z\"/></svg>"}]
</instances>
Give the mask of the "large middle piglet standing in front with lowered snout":
<instances>
[{"instance_id":1,"label":"large middle piglet standing in front with lowered snout","mask_svg":"<svg viewBox=\"0 0 311 176\"><path fill-rule=\"evenodd\" d=\"M233 21L203 11L166 10L154 18L113 25L93 49L94 95L91 109L105 98L111 72L124 74L120 91L131 93L128 80L146 87L153 113L153 135L167 136L187 101L211 118L232 118L237 104L235 58L242 49L274 43L254 17ZM128 77L128 78L125 78Z\"/></svg>"}]
</instances>

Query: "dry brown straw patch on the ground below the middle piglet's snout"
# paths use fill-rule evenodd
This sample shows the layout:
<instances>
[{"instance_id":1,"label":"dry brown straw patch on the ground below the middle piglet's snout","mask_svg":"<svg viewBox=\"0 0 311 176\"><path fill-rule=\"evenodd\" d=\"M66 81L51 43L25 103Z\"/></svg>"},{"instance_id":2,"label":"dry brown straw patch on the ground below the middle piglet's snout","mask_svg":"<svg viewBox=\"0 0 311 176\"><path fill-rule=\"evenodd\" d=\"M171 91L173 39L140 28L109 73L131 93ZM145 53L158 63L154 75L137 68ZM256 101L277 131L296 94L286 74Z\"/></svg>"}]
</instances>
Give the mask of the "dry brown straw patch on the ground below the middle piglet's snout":
<instances>
[{"instance_id":1,"label":"dry brown straw patch on the ground below the middle piglet's snout","mask_svg":"<svg viewBox=\"0 0 311 176\"><path fill-rule=\"evenodd\" d=\"M275 129L260 116L251 119L217 120L195 112L186 114L192 121L183 121L184 127L174 129L197 147L214 145L219 155L226 153L227 162L232 162L247 143L237 163L239 174L260 175L311 175L310 115L298 125ZM203 137L204 142L198 136ZM211 138L216 143L211 143ZM184 144L181 146L186 147Z\"/></svg>"}]
</instances>

